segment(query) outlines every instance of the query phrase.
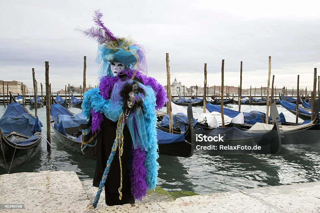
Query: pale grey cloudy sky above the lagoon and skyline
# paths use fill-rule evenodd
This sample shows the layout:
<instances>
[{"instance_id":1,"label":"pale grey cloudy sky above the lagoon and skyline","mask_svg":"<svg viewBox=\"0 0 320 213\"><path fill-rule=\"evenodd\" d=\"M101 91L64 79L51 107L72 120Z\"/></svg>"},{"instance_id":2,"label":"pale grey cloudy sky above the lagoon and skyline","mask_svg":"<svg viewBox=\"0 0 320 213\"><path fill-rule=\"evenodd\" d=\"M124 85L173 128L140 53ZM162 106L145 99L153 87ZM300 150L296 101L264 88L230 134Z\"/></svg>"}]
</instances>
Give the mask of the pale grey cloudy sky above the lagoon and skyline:
<instances>
[{"instance_id":1,"label":"pale grey cloudy sky above the lagoon and skyline","mask_svg":"<svg viewBox=\"0 0 320 213\"><path fill-rule=\"evenodd\" d=\"M115 2L115 3L114 3ZM87 85L95 84L100 65L97 44L75 28L93 26L92 15L103 13L105 25L121 37L131 35L147 51L148 75L166 84L165 53L170 54L171 82L283 85L311 89L313 71L320 74L319 1L5 1L0 0L0 80L18 80L32 87L31 68L45 83L44 61L50 64L52 88L82 84L87 56Z\"/></svg>"}]
</instances>

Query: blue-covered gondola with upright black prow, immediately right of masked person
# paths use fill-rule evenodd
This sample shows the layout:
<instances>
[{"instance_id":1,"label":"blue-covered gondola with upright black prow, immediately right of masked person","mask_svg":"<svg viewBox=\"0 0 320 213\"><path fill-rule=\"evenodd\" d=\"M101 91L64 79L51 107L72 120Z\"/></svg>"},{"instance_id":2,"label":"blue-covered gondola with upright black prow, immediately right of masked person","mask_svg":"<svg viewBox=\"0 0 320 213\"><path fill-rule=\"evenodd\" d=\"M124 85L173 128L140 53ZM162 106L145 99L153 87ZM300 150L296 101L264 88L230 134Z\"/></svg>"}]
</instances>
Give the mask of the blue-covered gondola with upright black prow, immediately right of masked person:
<instances>
[{"instance_id":1,"label":"blue-covered gondola with upright black prow, immediately right of masked person","mask_svg":"<svg viewBox=\"0 0 320 213\"><path fill-rule=\"evenodd\" d=\"M190 103L188 105L188 128L184 133L175 130L173 134L170 134L168 128L157 125L159 154L185 158L191 157L196 141L193 123L192 105Z\"/></svg>"}]
</instances>

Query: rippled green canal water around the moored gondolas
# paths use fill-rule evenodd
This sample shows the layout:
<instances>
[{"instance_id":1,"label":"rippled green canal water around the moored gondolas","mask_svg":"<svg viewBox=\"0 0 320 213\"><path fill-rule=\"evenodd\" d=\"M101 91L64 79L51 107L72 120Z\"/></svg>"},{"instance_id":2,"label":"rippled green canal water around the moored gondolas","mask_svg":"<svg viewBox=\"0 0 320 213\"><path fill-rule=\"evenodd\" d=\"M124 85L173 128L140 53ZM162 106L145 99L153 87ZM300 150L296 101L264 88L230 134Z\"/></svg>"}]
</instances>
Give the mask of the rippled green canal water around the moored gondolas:
<instances>
[{"instance_id":1,"label":"rippled green canal water around the moored gondolas","mask_svg":"<svg viewBox=\"0 0 320 213\"><path fill-rule=\"evenodd\" d=\"M226 107L237 110L238 105ZM34 113L34 109L27 109ZM295 122L295 115L282 106L277 106L288 122ZM74 113L79 108L69 108ZM241 111L266 111L266 106L241 106ZM4 106L0 106L0 116ZM162 111L166 111L165 108ZM202 113L202 107L193 107L194 112ZM40 121L46 134L45 107L38 109ZM299 122L302 122L299 119ZM81 180L92 180L95 161L85 159L63 146L51 129L51 152L46 151L43 140L40 151L30 161L12 172L37 172L43 170L74 171ZM167 191L190 190L200 194L242 190L262 186L286 185L320 181L320 144L285 145L293 154L253 155L233 154L214 155L210 152L195 151L190 158L160 155L158 185ZM5 170L0 168L0 174Z\"/></svg>"}]
</instances>

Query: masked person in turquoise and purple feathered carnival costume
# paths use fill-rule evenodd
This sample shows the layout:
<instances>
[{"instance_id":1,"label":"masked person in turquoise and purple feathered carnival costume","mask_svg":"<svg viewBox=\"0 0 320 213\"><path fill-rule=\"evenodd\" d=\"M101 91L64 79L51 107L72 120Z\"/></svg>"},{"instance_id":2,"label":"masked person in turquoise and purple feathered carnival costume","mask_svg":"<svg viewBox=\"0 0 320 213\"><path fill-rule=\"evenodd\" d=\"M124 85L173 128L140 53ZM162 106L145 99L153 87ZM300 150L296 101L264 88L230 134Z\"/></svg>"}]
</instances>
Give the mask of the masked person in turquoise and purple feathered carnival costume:
<instances>
[{"instance_id":1,"label":"masked person in turquoise and purple feathered carnival costume","mask_svg":"<svg viewBox=\"0 0 320 213\"><path fill-rule=\"evenodd\" d=\"M130 36L115 37L95 11L94 27L81 32L96 40L96 62L101 63L99 87L84 93L83 115L92 121L96 134L97 163L93 186L98 187L104 171L107 205L141 200L157 184L158 158L155 109L167 101L161 84L147 76L143 47ZM113 145L119 147L107 165Z\"/></svg>"}]
</instances>

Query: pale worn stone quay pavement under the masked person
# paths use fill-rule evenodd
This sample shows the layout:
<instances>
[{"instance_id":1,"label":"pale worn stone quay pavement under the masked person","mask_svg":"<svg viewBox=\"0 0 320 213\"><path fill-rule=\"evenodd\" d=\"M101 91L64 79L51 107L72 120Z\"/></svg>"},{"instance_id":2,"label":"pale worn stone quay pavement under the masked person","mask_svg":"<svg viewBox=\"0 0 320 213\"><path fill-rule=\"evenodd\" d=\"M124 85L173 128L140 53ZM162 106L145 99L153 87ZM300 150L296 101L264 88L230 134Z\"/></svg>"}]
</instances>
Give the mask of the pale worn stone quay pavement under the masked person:
<instances>
[{"instance_id":1,"label":"pale worn stone quay pavement under the masked person","mask_svg":"<svg viewBox=\"0 0 320 213\"><path fill-rule=\"evenodd\" d=\"M136 204L106 206L101 193L72 171L0 175L0 204L24 204L1 212L320 212L320 182L268 186L242 191L181 197L151 193Z\"/></svg>"}]
</instances>

